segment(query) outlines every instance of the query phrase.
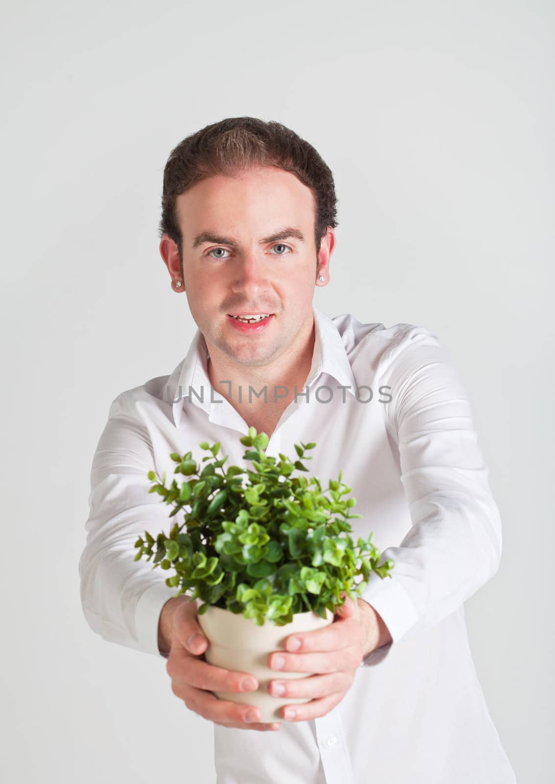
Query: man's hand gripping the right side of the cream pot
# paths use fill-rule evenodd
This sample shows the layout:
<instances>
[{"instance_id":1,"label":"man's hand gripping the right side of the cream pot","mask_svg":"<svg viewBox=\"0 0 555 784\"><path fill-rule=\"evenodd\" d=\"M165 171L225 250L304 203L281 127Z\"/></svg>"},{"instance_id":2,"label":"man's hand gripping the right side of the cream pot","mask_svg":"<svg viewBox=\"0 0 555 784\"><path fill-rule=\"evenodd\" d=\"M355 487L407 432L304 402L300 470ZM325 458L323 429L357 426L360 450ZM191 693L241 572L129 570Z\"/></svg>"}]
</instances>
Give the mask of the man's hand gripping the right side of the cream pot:
<instances>
[{"instance_id":1,"label":"man's hand gripping the right side of the cream pot","mask_svg":"<svg viewBox=\"0 0 555 784\"><path fill-rule=\"evenodd\" d=\"M286 652L272 652L268 658L273 670L314 675L270 681L268 691L276 697L312 698L310 702L284 706L281 715L285 719L304 721L325 716L349 691L362 659L390 641L390 633L372 605L364 599L354 602L346 597L329 626L292 634L285 640Z\"/></svg>"}]
</instances>

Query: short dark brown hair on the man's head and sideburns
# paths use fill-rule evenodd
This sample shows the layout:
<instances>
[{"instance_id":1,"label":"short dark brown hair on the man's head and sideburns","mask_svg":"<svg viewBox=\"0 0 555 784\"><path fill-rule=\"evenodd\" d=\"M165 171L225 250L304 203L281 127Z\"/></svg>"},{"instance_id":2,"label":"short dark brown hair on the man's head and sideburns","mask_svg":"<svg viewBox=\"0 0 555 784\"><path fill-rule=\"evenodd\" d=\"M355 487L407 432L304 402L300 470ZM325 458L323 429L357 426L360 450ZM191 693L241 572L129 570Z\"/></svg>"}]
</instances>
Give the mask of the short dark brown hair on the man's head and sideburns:
<instances>
[{"instance_id":1,"label":"short dark brown hair on the man's head and sideburns","mask_svg":"<svg viewBox=\"0 0 555 784\"><path fill-rule=\"evenodd\" d=\"M160 238L168 234L176 243L182 274L183 237L176 220L176 198L206 177L234 176L254 166L275 166L292 172L313 192L317 253L328 226L336 228L333 175L314 147L274 120L230 117L187 136L173 148L165 165L158 230Z\"/></svg>"}]
</instances>

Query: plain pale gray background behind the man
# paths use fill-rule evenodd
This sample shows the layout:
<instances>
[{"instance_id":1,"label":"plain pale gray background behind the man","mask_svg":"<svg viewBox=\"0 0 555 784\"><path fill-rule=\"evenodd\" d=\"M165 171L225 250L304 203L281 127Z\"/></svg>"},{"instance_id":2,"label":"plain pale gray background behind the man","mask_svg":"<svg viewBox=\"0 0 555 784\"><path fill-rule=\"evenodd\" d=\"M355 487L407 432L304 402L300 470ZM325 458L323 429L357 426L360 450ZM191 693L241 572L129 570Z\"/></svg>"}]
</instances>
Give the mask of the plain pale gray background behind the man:
<instances>
[{"instance_id":1,"label":"plain pale gray background behind the man","mask_svg":"<svg viewBox=\"0 0 555 784\"><path fill-rule=\"evenodd\" d=\"M111 401L172 372L194 334L158 252L166 158L250 114L336 177L314 303L426 326L466 382L503 522L470 643L518 781L553 781L553 3L52 0L2 16L6 778L215 780L212 724L165 662L86 625L78 558Z\"/></svg>"}]
</instances>

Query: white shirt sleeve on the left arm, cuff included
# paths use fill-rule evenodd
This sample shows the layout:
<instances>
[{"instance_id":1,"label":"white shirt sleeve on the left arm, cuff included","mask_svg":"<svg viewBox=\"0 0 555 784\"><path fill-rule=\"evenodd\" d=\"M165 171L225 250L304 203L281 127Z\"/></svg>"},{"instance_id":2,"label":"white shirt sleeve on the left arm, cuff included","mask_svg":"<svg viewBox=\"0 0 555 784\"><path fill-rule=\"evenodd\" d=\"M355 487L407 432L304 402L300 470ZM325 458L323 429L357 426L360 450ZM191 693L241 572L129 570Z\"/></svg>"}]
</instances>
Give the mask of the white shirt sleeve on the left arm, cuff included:
<instances>
[{"instance_id":1,"label":"white shirt sleeve on the left arm, cuff included","mask_svg":"<svg viewBox=\"0 0 555 784\"><path fill-rule=\"evenodd\" d=\"M103 640L162 658L158 619L177 589L153 559L134 561L135 543L148 531L169 534L169 508L149 493L154 456L146 428L126 394L112 402L91 469L88 532L79 561L81 602L86 621Z\"/></svg>"}]
</instances>

